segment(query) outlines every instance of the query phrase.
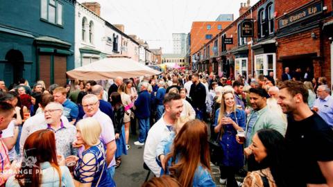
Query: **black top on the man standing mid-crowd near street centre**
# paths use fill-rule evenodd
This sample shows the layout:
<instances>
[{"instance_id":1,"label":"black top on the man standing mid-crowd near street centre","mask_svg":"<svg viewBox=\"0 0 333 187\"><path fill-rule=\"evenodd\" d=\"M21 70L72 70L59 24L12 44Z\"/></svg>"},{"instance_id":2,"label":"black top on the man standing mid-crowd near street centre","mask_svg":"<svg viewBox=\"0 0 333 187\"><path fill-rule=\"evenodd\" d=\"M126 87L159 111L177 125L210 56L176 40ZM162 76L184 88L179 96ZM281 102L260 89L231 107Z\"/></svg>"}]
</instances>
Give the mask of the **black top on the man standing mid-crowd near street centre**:
<instances>
[{"instance_id":1,"label":"black top on the man standing mid-crowd near street centre","mask_svg":"<svg viewBox=\"0 0 333 187\"><path fill-rule=\"evenodd\" d=\"M199 84L191 84L191 89L189 90L189 97L192 100L192 107L194 109L205 109L206 106L206 88L199 82Z\"/></svg>"}]
</instances>

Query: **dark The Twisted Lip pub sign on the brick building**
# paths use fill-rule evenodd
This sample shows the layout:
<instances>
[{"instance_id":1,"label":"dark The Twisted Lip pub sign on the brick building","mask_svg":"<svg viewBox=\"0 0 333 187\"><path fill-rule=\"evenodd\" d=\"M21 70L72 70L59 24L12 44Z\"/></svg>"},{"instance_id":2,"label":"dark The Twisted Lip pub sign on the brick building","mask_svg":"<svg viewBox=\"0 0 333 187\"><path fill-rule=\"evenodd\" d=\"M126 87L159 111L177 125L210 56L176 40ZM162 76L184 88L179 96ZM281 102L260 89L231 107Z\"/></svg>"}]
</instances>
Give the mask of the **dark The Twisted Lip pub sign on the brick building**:
<instances>
[{"instance_id":1,"label":"dark The Twisted Lip pub sign on the brick building","mask_svg":"<svg viewBox=\"0 0 333 187\"><path fill-rule=\"evenodd\" d=\"M285 17L282 17L279 20L279 28L284 28L298 21L302 21L303 19L313 17L314 15L318 15L321 12L323 12L323 5L321 2L312 4L294 13L286 15Z\"/></svg>"}]
</instances>

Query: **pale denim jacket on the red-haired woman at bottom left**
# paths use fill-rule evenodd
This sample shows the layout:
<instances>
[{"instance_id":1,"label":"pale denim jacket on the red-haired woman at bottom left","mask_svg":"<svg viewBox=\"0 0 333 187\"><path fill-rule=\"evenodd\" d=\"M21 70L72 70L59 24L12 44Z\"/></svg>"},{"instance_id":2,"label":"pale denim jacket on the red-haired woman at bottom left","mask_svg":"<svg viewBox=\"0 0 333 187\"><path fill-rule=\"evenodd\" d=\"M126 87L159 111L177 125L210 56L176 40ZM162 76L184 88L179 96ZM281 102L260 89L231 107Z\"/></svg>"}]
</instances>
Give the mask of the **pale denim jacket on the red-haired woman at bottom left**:
<instances>
[{"instance_id":1,"label":"pale denim jacket on the red-haired woman at bottom left","mask_svg":"<svg viewBox=\"0 0 333 187\"><path fill-rule=\"evenodd\" d=\"M40 163L40 168L42 169L42 182L40 186L42 187L59 187L59 177L56 168L51 166L48 161ZM60 166L61 170L61 186L74 187L74 181L71 178L71 173L66 166ZM15 175L11 176L7 182L6 186L19 186Z\"/></svg>"}]
</instances>

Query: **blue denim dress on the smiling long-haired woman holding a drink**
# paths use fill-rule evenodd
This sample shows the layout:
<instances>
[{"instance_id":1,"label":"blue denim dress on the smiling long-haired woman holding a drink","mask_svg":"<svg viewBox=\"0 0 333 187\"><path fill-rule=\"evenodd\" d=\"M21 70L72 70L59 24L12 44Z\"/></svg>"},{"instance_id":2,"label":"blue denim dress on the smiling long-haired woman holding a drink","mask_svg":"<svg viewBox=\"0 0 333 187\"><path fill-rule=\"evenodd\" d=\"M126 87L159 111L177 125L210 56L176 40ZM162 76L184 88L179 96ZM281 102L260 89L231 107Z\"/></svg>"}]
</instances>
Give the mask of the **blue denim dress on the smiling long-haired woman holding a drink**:
<instances>
[{"instance_id":1,"label":"blue denim dress on the smiling long-haired woman holding a drink","mask_svg":"<svg viewBox=\"0 0 333 187\"><path fill-rule=\"evenodd\" d=\"M215 125L218 124L220 109L216 110L215 114ZM225 115L227 116L227 115ZM239 127L245 130L246 126L246 114L244 110L236 109L236 114L234 112L228 115L232 118L232 121L236 122ZM244 152L243 145L237 143L236 134L237 130L234 129L232 124L223 125L223 134L219 139L219 145L223 150L222 164L223 166L232 166L234 168L240 169L244 166Z\"/></svg>"}]
</instances>

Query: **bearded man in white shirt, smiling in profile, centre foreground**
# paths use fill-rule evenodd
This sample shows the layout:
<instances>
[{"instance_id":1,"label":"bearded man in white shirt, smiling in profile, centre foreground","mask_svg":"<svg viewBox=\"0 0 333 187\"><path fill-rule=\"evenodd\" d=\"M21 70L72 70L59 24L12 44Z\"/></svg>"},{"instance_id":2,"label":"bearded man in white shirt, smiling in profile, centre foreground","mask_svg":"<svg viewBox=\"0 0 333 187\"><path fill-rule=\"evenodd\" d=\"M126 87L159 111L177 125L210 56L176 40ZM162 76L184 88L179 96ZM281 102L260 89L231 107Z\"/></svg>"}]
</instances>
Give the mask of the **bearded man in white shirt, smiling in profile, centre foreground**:
<instances>
[{"instance_id":1,"label":"bearded man in white shirt, smiling in profile, centre foreground","mask_svg":"<svg viewBox=\"0 0 333 187\"><path fill-rule=\"evenodd\" d=\"M170 136L177 119L182 113L182 98L179 94L170 93L164 97L165 112L159 121L148 132L146 146L144 147L144 162L156 177L160 177L161 167L156 162L157 145Z\"/></svg>"}]
</instances>

